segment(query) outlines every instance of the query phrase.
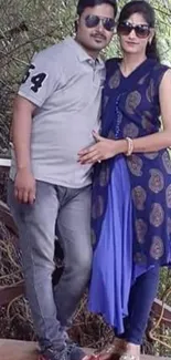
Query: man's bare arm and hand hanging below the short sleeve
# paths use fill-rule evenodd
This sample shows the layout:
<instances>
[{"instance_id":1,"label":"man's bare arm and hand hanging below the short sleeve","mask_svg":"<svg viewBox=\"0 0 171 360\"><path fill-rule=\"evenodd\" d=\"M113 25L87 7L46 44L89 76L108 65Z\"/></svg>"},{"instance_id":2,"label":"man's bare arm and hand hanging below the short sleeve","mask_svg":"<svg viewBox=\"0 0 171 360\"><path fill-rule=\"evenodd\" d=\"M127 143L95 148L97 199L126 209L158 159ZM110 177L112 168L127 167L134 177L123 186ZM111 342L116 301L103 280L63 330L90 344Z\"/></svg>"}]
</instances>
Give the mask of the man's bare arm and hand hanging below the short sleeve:
<instances>
[{"instance_id":1,"label":"man's bare arm and hand hanging below the short sleeve","mask_svg":"<svg viewBox=\"0 0 171 360\"><path fill-rule=\"evenodd\" d=\"M35 179L31 169L32 116L36 105L18 95L14 101L12 121L12 142L17 161L14 195L20 203L33 204L35 200Z\"/></svg>"}]
</instances>

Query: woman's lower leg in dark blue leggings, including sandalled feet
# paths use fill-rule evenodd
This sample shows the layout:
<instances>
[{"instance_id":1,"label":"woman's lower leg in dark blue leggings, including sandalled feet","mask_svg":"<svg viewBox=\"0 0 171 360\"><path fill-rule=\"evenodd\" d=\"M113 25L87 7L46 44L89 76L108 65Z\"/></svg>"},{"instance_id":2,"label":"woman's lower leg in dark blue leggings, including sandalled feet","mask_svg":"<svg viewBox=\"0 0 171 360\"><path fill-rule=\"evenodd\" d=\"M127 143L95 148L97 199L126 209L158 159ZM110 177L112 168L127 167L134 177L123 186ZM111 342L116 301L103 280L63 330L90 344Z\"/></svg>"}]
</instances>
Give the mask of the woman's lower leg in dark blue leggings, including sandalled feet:
<instances>
[{"instance_id":1,"label":"woman's lower leg in dark blue leggings, including sandalled feet","mask_svg":"<svg viewBox=\"0 0 171 360\"><path fill-rule=\"evenodd\" d=\"M125 318L125 332L119 335L115 329L115 341L106 351L99 356L100 360L114 359L121 356L121 360L133 356L139 359L140 344L146 331L149 313L159 284L160 267L156 266L139 276L130 290L128 311Z\"/></svg>"}]
</instances>

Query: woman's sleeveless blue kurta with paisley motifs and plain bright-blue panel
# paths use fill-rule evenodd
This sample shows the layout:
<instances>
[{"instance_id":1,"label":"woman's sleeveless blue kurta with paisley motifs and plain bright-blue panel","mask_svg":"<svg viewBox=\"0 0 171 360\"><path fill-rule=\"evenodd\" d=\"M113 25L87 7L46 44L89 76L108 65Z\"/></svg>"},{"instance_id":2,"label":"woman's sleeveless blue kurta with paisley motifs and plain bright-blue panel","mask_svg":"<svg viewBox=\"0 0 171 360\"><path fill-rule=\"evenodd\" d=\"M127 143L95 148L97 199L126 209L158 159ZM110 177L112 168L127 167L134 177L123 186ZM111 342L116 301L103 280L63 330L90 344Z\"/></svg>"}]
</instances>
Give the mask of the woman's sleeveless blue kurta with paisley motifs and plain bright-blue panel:
<instances>
[{"instance_id":1,"label":"woman's sleeveless blue kurta with paisley motifs and plain bright-blue panel","mask_svg":"<svg viewBox=\"0 0 171 360\"><path fill-rule=\"evenodd\" d=\"M131 138L160 131L159 85L168 68L147 59L128 78L107 62L101 135ZM124 332L130 287L156 265L171 261L171 161L168 150L118 155L95 169L95 243L89 310Z\"/></svg>"}]
</instances>

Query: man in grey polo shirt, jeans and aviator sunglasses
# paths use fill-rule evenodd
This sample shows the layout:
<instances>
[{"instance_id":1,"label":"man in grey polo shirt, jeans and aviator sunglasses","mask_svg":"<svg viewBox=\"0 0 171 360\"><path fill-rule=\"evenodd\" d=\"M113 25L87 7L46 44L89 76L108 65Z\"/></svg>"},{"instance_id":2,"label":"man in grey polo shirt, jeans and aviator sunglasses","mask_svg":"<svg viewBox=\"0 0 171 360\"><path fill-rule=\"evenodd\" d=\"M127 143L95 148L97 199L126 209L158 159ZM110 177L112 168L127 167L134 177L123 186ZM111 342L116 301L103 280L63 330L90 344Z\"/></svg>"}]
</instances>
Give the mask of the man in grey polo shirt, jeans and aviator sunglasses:
<instances>
[{"instance_id":1,"label":"man in grey polo shirt, jeans and aviator sunglasses","mask_svg":"<svg viewBox=\"0 0 171 360\"><path fill-rule=\"evenodd\" d=\"M113 37L116 2L81 0L77 14L75 39L33 58L13 113L9 204L43 360L84 357L65 332L92 265L92 168L77 153L98 128L105 69L97 56ZM53 288L55 226L64 271Z\"/></svg>"}]
</instances>

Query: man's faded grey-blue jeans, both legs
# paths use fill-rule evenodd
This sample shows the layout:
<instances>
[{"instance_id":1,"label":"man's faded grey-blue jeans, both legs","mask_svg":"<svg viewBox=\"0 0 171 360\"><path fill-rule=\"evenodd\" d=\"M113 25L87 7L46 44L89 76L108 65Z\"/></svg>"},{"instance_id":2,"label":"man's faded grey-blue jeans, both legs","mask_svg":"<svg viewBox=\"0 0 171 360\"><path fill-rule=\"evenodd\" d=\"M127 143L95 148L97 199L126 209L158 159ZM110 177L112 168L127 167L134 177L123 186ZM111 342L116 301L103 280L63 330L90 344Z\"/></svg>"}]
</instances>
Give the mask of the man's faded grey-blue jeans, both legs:
<instances>
[{"instance_id":1,"label":"man's faded grey-blue jeans, both legs","mask_svg":"<svg viewBox=\"0 0 171 360\"><path fill-rule=\"evenodd\" d=\"M19 229L26 297L42 350L64 348L64 327L89 279L90 193L90 186L74 189L38 181L35 203L20 204L9 182L8 203ZM64 271L53 287L55 229Z\"/></svg>"}]
</instances>

